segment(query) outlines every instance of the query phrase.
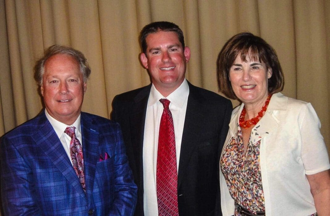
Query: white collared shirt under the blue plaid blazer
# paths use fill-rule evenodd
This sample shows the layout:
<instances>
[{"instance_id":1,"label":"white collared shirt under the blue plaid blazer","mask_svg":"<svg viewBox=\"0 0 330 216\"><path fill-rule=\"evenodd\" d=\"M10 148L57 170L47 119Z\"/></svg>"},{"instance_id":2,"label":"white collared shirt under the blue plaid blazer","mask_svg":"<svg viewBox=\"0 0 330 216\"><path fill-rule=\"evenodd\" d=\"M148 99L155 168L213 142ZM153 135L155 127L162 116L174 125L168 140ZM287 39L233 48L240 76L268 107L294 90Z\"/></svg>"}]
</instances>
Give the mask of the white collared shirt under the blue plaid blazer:
<instances>
[{"instance_id":1,"label":"white collared shirt under the blue plaid blazer","mask_svg":"<svg viewBox=\"0 0 330 216\"><path fill-rule=\"evenodd\" d=\"M67 127L75 126L76 127L76 129L75 129L76 137L78 138L79 142L82 145L82 134L81 134L81 125L80 125L81 117L80 117L80 115L78 116L77 120L72 125L66 125L62 122L57 121L53 117L51 117L46 109L45 109L45 114L46 114L46 117L47 117L48 121L50 122L51 126L54 128L56 135L60 139L60 141L62 143L62 146L63 146L66 154L68 155L68 157L70 159L70 162L72 164L71 157L70 157L71 137L68 134L64 133L64 130Z\"/></svg>"}]
</instances>

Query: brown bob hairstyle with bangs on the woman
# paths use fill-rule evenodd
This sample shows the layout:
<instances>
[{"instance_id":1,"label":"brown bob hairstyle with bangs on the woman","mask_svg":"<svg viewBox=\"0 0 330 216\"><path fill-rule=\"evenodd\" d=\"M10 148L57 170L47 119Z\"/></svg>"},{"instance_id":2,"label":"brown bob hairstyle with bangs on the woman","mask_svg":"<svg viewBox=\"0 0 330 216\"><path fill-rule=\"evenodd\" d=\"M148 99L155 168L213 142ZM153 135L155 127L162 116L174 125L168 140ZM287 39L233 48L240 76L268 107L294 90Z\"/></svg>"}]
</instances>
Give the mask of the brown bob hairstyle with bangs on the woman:
<instances>
[{"instance_id":1,"label":"brown bob hairstyle with bangs on the woman","mask_svg":"<svg viewBox=\"0 0 330 216\"><path fill-rule=\"evenodd\" d=\"M273 47L265 40L249 32L234 35L223 46L217 61L219 90L231 99L238 99L229 80L229 71L237 55L246 61L247 56L259 62L264 62L267 69L272 69L272 77L268 79L268 92L280 92L284 87L284 76L281 64Z\"/></svg>"}]
</instances>

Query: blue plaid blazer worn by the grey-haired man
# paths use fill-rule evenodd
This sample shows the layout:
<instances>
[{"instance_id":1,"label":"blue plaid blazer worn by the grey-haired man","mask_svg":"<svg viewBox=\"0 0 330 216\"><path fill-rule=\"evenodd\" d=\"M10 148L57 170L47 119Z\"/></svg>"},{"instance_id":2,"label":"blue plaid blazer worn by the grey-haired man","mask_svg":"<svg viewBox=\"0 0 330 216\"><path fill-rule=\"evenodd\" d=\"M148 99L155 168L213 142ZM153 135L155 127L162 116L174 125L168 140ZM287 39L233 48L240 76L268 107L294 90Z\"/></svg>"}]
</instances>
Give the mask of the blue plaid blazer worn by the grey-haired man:
<instances>
[{"instance_id":1,"label":"blue plaid blazer worn by the grey-haired man","mask_svg":"<svg viewBox=\"0 0 330 216\"><path fill-rule=\"evenodd\" d=\"M119 125L82 112L81 128L86 193L45 112L1 138L5 215L133 214L137 187Z\"/></svg>"}]
</instances>

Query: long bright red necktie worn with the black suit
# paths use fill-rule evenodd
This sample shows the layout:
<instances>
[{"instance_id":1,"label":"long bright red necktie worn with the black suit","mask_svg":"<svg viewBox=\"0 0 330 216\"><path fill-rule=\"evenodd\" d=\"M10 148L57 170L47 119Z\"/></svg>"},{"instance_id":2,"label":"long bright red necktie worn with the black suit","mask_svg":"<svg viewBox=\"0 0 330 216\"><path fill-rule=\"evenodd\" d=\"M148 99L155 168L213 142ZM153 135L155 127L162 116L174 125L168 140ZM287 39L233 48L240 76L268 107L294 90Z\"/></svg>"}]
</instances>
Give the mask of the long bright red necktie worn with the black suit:
<instances>
[{"instance_id":1,"label":"long bright red necktie worn with the black suit","mask_svg":"<svg viewBox=\"0 0 330 216\"><path fill-rule=\"evenodd\" d=\"M170 101L159 100L163 106L157 152L157 203L159 215L179 215L177 154Z\"/></svg>"}]
</instances>

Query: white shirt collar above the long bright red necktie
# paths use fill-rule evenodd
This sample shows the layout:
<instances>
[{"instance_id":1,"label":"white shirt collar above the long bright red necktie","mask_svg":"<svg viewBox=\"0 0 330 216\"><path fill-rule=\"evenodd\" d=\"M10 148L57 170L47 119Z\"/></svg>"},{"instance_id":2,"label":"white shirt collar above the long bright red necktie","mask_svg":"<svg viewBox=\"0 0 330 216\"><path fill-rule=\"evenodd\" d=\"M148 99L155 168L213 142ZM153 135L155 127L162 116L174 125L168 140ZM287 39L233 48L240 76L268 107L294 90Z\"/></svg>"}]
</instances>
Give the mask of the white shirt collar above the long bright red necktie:
<instances>
[{"instance_id":1,"label":"white shirt collar above the long bright red necktie","mask_svg":"<svg viewBox=\"0 0 330 216\"><path fill-rule=\"evenodd\" d=\"M170 100L171 103L176 107L182 108L184 101L188 97L188 95L189 95L189 86L186 79L184 79L182 84L167 97L164 97L152 84L149 95L148 106L154 105L156 102L159 101L159 99L166 98Z\"/></svg>"}]
</instances>

